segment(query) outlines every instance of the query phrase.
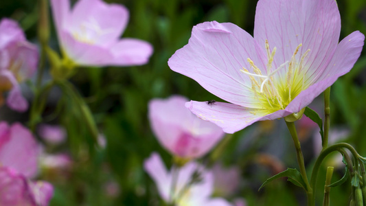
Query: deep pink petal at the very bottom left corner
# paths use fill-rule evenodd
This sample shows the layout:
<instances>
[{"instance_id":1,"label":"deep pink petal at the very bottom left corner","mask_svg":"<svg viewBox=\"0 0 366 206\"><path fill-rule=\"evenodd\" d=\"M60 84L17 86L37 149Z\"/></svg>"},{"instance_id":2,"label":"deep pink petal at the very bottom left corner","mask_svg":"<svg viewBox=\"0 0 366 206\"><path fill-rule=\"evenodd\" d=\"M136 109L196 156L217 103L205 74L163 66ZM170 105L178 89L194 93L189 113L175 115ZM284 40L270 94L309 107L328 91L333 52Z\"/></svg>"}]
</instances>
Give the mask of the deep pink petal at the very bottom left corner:
<instances>
[{"instance_id":1,"label":"deep pink petal at the very bottom left corner","mask_svg":"<svg viewBox=\"0 0 366 206\"><path fill-rule=\"evenodd\" d=\"M0 167L0 205L36 206L27 179L11 168Z\"/></svg>"}]
</instances>

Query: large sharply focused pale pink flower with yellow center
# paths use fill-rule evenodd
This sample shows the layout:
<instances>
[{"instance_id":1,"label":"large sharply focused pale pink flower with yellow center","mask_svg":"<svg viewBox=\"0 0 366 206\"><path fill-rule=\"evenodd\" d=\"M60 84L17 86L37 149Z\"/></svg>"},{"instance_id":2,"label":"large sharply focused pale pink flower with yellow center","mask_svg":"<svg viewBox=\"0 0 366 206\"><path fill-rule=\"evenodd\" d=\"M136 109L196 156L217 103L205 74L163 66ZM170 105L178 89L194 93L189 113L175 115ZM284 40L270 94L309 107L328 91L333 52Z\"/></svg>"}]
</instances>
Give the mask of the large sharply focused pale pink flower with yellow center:
<instances>
[{"instance_id":1,"label":"large sharply focused pale pink flower with yellow center","mask_svg":"<svg viewBox=\"0 0 366 206\"><path fill-rule=\"evenodd\" d=\"M353 32L339 43L340 32L334 0L260 0L254 38L232 23L201 23L168 65L229 102L186 106L235 133L300 112L350 71L365 36Z\"/></svg>"}]
</instances>

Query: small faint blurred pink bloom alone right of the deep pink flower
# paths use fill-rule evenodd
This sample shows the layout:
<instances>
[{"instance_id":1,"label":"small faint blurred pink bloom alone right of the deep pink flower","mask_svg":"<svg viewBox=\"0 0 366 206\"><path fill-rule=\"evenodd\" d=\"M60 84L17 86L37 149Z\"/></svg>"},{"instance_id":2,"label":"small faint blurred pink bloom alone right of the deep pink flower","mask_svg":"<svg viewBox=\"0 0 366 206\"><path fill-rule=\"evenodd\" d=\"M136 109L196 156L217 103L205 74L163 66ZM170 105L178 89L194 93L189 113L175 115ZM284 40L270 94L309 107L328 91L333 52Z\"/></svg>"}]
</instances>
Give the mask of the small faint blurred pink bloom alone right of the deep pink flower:
<instances>
[{"instance_id":1,"label":"small faint blurred pink bloom alone right of the deep pink flower","mask_svg":"<svg viewBox=\"0 0 366 206\"><path fill-rule=\"evenodd\" d=\"M50 144L60 144L66 139L66 130L62 126L41 124L38 134Z\"/></svg>"}]
</instances>

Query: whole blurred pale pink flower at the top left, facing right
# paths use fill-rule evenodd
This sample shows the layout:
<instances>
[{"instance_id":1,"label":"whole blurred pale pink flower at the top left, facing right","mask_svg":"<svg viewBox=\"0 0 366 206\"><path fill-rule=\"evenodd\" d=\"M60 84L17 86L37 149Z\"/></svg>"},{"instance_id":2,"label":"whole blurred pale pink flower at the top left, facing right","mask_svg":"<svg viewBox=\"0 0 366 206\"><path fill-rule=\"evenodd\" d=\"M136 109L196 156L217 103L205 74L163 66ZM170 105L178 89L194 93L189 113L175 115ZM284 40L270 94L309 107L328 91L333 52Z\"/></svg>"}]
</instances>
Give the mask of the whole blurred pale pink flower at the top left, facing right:
<instances>
[{"instance_id":1,"label":"whole blurred pale pink flower at the top left, facing right","mask_svg":"<svg viewBox=\"0 0 366 206\"><path fill-rule=\"evenodd\" d=\"M61 49L78 65L144 65L152 46L135 38L119 39L128 10L100 0L80 0L70 10L69 0L52 0Z\"/></svg>"}]
</instances>

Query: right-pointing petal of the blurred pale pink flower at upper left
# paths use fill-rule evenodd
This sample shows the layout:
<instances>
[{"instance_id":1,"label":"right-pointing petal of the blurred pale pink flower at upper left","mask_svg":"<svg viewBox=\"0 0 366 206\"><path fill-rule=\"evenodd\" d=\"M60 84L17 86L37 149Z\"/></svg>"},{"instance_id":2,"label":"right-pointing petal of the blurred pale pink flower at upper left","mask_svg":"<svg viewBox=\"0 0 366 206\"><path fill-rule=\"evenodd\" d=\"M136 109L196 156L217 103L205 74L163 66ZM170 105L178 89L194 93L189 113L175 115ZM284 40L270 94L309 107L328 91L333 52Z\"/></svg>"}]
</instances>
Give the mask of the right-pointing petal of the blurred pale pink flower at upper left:
<instances>
[{"instance_id":1,"label":"right-pointing petal of the blurred pale pink flower at upper left","mask_svg":"<svg viewBox=\"0 0 366 206\"><path fill-rule=\"evenodd\" d=\"M111 47L111 52L115 56L112 64L121 66L144 65L148 62L152 51L152 46L146 41L123 38Z\"/></svg>"}]
</instances>

